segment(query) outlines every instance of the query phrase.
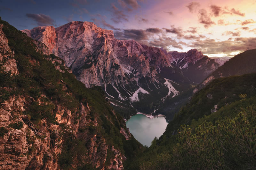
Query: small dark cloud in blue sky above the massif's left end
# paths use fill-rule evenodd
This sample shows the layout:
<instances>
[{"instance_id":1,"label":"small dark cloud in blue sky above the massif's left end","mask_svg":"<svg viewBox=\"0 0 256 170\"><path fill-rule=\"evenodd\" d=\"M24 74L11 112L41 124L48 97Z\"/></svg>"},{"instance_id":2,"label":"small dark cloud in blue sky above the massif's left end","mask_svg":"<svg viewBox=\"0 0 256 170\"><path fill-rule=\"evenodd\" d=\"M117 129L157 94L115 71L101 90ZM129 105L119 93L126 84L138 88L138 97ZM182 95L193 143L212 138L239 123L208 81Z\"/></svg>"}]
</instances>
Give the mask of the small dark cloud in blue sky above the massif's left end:
<instances>
[{"instance_id":1,"label":"small dark cloud in blue sky above the massif's left end","mask_svg":"<svg viewBox=\"0 0 256 170\"><path fill-rule=\"evenodd\" d=\"M36 21L38 26L54 25L55 22L50 16L44 14L26 14L26 17L32 18Z\"/></svg>"}]
</instances>

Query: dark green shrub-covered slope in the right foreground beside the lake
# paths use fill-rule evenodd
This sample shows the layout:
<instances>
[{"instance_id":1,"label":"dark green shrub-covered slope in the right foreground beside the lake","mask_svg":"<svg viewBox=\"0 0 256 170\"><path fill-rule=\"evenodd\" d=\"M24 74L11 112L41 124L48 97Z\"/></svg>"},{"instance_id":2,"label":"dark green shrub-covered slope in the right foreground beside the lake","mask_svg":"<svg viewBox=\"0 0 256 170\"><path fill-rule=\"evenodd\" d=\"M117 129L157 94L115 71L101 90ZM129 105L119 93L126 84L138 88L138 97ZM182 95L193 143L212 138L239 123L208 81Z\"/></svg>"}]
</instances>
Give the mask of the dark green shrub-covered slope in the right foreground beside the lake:
<instances>
[{"instance_id":1,"label":"dark green shrub-covered slope in the right foreground beside the lake","mask_svg":"<svg viewBox=\"0 0 256 170\"><path fill-rule=\"evenodd\" d=\"M199 90L128 169L255 168L256 73Z\"/></svg>"}]
</instances>

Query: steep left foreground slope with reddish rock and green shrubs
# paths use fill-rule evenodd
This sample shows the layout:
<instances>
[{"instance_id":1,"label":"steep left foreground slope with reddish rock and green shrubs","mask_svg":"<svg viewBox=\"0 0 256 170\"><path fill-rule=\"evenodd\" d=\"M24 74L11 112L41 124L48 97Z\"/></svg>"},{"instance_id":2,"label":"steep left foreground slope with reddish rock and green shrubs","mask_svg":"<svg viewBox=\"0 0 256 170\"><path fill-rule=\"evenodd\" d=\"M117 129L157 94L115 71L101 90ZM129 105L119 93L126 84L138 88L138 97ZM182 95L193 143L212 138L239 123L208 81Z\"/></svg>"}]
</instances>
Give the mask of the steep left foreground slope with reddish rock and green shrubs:
<instances>
[{"instance_id":1,"label":"steep left foreground slope with reddish rock and green shrubs","mask_svg":"<svg viewBox=\"0 0 256 170\"><path fill-rule=\"evenodd\" d=\"M0 169L124 169L143 146L101 87L42 49L0 20Z\"/></svg>"}]
</instances>

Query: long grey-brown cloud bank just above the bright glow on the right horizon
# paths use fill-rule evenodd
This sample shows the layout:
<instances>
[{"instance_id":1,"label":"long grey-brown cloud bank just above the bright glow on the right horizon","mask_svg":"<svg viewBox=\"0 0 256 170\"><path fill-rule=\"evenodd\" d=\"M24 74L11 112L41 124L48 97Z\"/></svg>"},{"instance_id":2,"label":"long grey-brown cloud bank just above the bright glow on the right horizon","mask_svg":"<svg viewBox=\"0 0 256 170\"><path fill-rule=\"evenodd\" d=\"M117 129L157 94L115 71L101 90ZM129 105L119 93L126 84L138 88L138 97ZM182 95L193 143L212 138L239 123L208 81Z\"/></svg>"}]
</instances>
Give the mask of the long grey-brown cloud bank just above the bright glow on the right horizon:
<instances>
[{"instance_id":1,"label":"long grey-brown cloud bank just above the bright glow on the right horizon","mask_svg":"<svg viewBox=\"0 0 256 170\"><path fill-rule=\"evenodd\" d=\"M232 53L234 51L245 51L256 47L256 38L235 38L227 41L215 41L214 39L205 39L194 41L188 47L197 48L205 54Z\"/></svg>"}]
</instances>

